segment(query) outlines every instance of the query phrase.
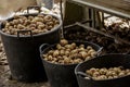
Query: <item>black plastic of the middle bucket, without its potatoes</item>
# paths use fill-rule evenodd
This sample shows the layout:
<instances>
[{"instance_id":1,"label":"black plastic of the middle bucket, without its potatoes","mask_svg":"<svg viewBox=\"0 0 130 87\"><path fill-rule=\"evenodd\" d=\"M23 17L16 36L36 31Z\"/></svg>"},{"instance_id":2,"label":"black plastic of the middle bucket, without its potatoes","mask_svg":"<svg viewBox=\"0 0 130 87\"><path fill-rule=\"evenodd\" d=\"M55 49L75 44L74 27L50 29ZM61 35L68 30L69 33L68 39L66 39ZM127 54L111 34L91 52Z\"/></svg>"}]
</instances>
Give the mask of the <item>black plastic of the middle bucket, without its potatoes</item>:
<instances>
[{"instance_id":1,"label":"black plastic of the middle bucket, without its potatoes","mask_svg":"<svg viewBox=\"0 0 130 87\"><path fill-rule=\"evenodd\" d=\"M77 45L83 44L86 47L91 46L96 51L101 50L101 47L91 44L91 42L80 42L80 41L74 41ZM47 53L52 48L55 48L56 45L41 45L40 46L40 52L41 52L41 59L44 65L44 70L49 79L49 83L51 84L51 87L78 87L78 83L75 75L75 67L77 64L54 64L49 61L46 61L42 58L42 54ZM44 49L46 48L46 49ZM42 50L44 49L44 50Z\"/></svg>"}]
</instances>

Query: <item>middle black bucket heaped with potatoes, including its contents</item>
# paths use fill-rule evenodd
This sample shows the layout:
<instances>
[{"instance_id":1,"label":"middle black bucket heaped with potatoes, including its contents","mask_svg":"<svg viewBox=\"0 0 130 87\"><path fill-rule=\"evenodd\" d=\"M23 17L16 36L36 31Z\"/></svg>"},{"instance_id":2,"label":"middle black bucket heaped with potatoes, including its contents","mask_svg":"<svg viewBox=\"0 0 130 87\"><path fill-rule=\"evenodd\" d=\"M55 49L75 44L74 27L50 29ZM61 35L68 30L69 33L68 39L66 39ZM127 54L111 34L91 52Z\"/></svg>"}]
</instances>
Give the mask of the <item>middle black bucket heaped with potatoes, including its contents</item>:
<instances>
[{"instance_id":1,"label":"middle black bucket heaped with potatoes, including its contents","mask_svg":"<svg viewBox=\"0 0 130 87\"><path fill-rule=\"evenodd\" d=\"M40 55L52 87L78 87L74 73L77 64L99 55L101 47L88 41L68 41L40 46Z\"/></svg>"}]
</instances>

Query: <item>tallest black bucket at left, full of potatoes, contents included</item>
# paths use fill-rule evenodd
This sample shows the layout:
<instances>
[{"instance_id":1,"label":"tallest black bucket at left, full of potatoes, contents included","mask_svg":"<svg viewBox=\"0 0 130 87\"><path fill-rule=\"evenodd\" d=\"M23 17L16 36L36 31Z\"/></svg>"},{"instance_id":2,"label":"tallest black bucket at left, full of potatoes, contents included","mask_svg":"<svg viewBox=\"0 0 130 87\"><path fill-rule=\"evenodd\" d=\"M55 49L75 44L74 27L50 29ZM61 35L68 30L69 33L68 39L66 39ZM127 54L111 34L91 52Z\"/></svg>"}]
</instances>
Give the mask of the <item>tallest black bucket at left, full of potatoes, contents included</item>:
<instances>
[{"instance_id":1,"label":"tallest black bucket at left, full of potatoes, contents included","mask_svg":"<svg viewBox=\"0 0 130 87\"><path fill-rule=\"evenodd\" d=\"M47 79L39 46L60 41L62 21L53 14L14 15L1 23L0 34L11 75L21 82Z\"/></svg>"}]
</instances>

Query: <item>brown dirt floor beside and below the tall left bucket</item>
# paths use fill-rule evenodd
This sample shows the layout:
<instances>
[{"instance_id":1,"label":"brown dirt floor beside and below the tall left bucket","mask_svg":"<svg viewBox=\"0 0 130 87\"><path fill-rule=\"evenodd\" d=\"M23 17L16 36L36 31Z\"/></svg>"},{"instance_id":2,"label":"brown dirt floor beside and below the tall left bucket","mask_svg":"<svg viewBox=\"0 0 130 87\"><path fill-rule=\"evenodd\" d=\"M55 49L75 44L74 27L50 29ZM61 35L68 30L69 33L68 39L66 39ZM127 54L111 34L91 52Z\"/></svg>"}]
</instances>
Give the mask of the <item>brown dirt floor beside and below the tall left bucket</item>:
<instances>
[{"instance_id":1,"label":"brown dirt floor beside and below the tall left bucket","mask_svg":"<svg viewBox=\"0 0 130 87\"><path fill-rule=\"evenodd\" d=\"M12 80L6 57L0 40L0 87L50 87L50 85L49 83L24 84Z\"/></svg>"}]
</instances>

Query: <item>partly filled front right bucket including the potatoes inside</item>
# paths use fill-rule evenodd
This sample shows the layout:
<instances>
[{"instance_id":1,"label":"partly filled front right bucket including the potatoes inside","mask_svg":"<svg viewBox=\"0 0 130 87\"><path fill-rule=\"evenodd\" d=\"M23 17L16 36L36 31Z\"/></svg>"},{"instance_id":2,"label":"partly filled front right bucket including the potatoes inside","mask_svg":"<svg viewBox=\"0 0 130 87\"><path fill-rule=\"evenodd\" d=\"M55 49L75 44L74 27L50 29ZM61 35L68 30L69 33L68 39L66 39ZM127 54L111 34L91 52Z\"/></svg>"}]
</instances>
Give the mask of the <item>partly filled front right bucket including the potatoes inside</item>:
<instances>
[{"instance_id":1,"label":"partly filled front right bucket including the potatoes inside","mask_svg":"<svg viewBox=\"0 0 130 87\"><path fill-rule=\"evenodd\" d=\"M128 87L130 55L110 53L78 64L75 74L79 87Z\"/></svg>"}]
</instances>

